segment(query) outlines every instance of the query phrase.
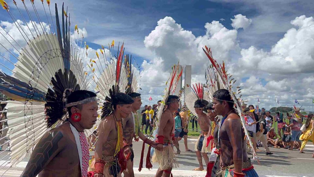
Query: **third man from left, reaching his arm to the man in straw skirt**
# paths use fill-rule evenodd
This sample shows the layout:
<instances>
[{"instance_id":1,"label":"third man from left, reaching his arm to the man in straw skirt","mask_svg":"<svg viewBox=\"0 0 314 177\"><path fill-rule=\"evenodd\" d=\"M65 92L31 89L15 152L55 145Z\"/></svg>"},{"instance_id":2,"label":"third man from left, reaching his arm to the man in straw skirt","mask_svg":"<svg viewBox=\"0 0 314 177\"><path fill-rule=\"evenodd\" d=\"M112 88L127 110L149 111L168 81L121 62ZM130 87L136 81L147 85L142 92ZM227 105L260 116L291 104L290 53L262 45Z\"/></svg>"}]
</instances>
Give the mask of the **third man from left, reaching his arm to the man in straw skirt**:
<instances>
[{"instance_id":1,"label":"third man from left, reaching his arm to the man in straw skirt","mask_svg":"<svg viewBox=\"0 0 314 177\"><path fill-rule=\"evenodd\" d=\"M133 152L133 144L132 144L133 138L135 141L138 141L139 140L138 138L140 138L141 140L143 140L144 142L143 144L147 143L149 145L152 145L153 147L156 147L157 143L153 142L152 140L149 140L140 131L137 111L141 108L141 105L142 105L141 94L132 92L132 93L129 93L128 95L131 96L134 102L132 104L131 114L127 116L126 118L122 118L122 121L123 121L122 125L123 125L123 136L126 139L126 143L131 148L131 156L129 156L129 159L127 159L128 160L127 170L123 171L123 174L125 177L134 177L134 171L133 171L134 152Z\"/></svg>"}]
</instances>

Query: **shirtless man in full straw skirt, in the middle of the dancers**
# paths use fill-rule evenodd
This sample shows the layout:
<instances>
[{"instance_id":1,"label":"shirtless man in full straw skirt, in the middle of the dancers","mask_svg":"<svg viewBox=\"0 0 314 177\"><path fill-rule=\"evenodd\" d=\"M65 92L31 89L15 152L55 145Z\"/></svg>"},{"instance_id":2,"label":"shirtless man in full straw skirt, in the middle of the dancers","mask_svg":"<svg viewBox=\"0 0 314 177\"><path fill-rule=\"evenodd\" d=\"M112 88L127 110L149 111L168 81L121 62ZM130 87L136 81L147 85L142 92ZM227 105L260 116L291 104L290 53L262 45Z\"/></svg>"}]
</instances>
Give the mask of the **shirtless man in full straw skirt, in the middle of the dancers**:
<instances>
[{"instance_id":1,"label":"shirtless man in full straw skirt, in the middle of the dancers","mask_svg":"<svg viewBox=\"0 0 314 177\"><path fill-rule=\"evenodd\" d=\"M159 168L155 177L171 175L173 167L177 168L176 156L173 151L174 140L174 117L172 114L179 108L179 97L176 95L169 95L167 108L163 111L157 134L157 147L153 155L152 161L159 164ZM160 110L161 111L161 110Z\"/></svg>"}]
</instances>

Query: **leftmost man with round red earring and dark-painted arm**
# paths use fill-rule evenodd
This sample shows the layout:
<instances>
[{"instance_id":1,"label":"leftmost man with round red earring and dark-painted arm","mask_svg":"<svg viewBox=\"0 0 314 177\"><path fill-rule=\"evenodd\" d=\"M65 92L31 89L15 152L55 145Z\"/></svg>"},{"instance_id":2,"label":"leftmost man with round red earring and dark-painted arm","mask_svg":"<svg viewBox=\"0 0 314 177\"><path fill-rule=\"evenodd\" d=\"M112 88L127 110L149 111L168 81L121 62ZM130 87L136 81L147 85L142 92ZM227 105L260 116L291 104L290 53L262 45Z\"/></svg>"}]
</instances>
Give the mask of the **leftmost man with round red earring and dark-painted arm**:
<instances>
[{"instance_id":1,"label":"leftmost man with round red earring and dark-painted arm","mask_svg":"<svg viewBox=\"0 0 314 177\"><path fill-rule=\"evenodd\" d=\"M26 165L22 177L73 176L86 177L89 160L89 144L84 129L95 125L98 117L96 94L77 90L64 98L70 118L62 125L52 128L39 140ZM48 126L54 124L66 113L46 110ZM62 112L62 110L59 110ZM55 120L51 120L54 118Z\"/></svg>"}]
</instances>

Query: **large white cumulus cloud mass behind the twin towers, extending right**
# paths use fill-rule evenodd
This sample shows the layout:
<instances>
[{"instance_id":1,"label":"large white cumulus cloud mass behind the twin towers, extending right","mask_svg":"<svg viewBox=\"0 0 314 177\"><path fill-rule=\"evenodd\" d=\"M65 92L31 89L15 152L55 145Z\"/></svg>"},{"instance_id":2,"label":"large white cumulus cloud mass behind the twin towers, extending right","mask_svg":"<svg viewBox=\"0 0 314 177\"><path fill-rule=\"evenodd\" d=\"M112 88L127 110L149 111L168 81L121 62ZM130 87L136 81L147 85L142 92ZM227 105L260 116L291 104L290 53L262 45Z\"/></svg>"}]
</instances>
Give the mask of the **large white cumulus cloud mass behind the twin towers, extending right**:
<instances>
[{"instance_id":1,"label":"large white cumulus cloud mass behind the twin towers, extending right","mask_svg":"<svg viewBox=\"0 0 314 177\"><path fill-rule=\"evenodd\" d=\"M291 21L295 27L288 30L269 51L255 46L239 47L237 29L245 29L251 22L244 15L235 15L232 19L234 29L229 30L219 21L212 21L204 26L206 34L196 37L171 17L160 19L144 40L145 47L156 56L142 65L142 76L154 78L151 83L149 79L142 80L148 89L147 94L162 94L165 86L160 85L167 80L171 66L178 60L183 66L192 65L192 83L203 82L209 62L202 47L207 45L212 48L215 59L226 61L227 70L242 88L242 98L250 100L251 104L256 104L259 98L260 106L269 109L275 106L277 98L280 106L292 106L296 98L304 107L311 106L311 98L314 97L311 91L313 77L309 77L309 73L314 71L313 18L296 17Z\"/></svg>"}]
</instances>

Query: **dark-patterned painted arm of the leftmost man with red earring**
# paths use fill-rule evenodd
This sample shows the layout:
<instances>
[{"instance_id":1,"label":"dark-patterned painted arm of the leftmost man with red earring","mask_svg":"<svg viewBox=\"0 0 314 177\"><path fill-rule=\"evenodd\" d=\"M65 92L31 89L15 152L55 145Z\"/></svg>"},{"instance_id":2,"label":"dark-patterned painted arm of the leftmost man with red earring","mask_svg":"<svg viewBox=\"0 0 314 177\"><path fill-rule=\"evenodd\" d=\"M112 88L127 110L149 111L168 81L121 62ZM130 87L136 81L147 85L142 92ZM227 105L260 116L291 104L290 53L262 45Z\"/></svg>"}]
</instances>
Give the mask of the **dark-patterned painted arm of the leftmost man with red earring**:
<instances>
[{"instance_id":1,"label":"dark-patterned painted arm of the leftmost man with red earring","mask_svg":"<svg viewBox=\"0 0 314 177\"><path fill-rule=\"evenodd\" d=\"M36 145L21 177L37 176L41 170L60 152L64 144L60 143L63 134L59 130L50 130Z\"/></svg>"}]
</instances>

